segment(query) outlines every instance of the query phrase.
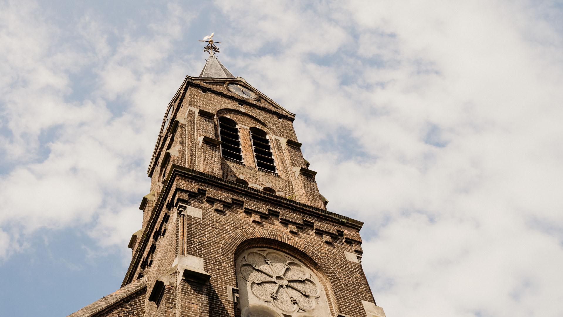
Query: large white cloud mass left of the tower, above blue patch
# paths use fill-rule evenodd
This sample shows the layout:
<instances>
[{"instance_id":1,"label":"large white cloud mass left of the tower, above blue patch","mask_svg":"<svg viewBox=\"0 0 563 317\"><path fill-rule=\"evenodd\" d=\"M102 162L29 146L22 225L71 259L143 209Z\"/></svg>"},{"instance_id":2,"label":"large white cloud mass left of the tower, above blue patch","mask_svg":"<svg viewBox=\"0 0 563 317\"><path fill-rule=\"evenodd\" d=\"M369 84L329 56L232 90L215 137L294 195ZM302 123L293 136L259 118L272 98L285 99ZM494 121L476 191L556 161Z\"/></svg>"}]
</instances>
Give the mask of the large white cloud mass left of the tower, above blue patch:
<instances>
[{"instance_id":1,"label":"large white cloud mass left of the tower, above blue patch","mask_svg":"<svg viewBox=\"0 0 563 317\"><path fill-rule=\"evenodd\" d=\"M25 249L39 229L67 226L91 230L99 247L127 250L158 126L184 76L174 67L184 62L170 58L173 43L193 14L169 5L137 34L134 23L115 30L92 11L69 30L37 5L5 7L0 67L10 76L0 105L10 133L0 146L12 168L0 178L0 257Z\"/></svg>"}]
</instances>

